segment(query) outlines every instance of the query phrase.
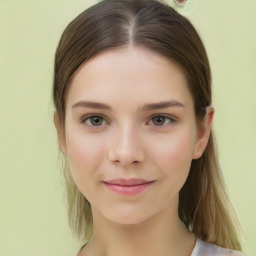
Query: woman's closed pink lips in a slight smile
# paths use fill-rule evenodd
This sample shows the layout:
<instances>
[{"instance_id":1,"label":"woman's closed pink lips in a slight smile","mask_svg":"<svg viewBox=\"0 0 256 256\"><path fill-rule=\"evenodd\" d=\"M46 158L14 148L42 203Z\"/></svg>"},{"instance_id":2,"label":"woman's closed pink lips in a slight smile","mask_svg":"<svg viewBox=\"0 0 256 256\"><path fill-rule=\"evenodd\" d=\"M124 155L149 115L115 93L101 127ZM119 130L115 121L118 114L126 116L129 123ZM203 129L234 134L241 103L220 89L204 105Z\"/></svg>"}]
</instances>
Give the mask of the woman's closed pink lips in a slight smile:
<instances>
[{"instance_id":1,"label":"woman's closed pink lips in a slight smile","mask_svg":"<svg viewBox=\"0 0 256 256\"><path fill-rule=\"evenodd\" d=\"M154 181L143 179L114 179L104 184L114 192L122 195L137 195L149 187Z\"/></svg>"}]
</instances>

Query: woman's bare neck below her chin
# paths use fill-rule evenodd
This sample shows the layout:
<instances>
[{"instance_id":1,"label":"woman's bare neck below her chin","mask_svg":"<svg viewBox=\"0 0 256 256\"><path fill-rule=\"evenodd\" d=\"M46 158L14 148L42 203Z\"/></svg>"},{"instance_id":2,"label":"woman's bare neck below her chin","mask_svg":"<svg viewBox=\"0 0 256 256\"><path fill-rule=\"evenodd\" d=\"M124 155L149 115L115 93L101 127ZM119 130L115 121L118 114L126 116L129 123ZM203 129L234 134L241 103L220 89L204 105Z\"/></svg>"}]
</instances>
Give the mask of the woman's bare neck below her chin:
<instances>
[{"instance_id":1,"label":"woman's bare neck below her chin","mask_svg":"<svg viewBox=\"0 0 256 256\"><path fill-rule=\"evenodd\" d=\"M114 223L92 208L93 235L78 256L191 255L195 238L180 221L177 206L178 199L139 224Z\"/></svg>"}]
</instances>

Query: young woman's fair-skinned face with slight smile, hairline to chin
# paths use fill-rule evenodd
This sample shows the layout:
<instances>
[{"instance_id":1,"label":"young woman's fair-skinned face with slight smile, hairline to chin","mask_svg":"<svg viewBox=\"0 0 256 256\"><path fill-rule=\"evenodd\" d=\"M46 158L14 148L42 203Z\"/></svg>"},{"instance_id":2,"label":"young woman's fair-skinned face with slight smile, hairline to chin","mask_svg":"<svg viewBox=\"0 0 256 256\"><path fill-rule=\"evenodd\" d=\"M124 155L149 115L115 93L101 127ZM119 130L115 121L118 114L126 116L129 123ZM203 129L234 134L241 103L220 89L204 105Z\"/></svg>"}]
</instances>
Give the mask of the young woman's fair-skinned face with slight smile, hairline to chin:
<instances>
[{"instance_id":1,"label":"young woman's fair-skinned face with slight smile, hairline to chin","mask_svg":"<svg viewBox=\"0 0 256 256\"><path fill-rule=\"evenodd\" d=\"M181 69L145 48L120 48L75 74L60 144L92 211L135 224L175 205L205 134Z\"/></svg>"}]
</instances>

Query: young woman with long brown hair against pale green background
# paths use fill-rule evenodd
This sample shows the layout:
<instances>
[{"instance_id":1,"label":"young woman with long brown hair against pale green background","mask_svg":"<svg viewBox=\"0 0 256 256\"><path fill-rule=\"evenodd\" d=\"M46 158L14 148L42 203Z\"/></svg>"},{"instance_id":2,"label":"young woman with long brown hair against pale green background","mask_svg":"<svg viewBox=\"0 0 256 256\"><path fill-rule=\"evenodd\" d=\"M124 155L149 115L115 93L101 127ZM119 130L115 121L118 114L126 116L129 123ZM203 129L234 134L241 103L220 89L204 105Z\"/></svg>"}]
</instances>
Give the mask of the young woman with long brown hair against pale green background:
<instances>
[{"instance_id":1,"label":"young woman with long brown hair against pale green background","mask_svg":"<svg viewBox=\"0 0 256 256\"><path fill-rule=\"evenodd\" d=\"M242 255L186 18L153 0L84 11L56 51L54 103L78 256Z\"/></svg>"}]
</instances>

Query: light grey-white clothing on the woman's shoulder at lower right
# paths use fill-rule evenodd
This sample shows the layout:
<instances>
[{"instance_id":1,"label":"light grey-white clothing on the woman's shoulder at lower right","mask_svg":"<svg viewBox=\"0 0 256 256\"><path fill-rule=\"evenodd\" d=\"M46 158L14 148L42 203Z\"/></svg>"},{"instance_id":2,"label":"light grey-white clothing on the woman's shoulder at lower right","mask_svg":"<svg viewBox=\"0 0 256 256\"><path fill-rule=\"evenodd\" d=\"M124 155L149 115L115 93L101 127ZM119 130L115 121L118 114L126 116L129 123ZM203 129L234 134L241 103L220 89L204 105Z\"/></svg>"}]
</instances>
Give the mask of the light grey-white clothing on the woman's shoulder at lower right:
<instances>
[{"instance_id":1,"label":"light grey-white clothing on the woman's shoulder at lower right","mask_svg":"<svg viewBox=\"0 0 256 256\"><path fill-rule=\"evenodd\" d=\"M219 247L197 238L191 256L244 256L242 252Z\"/></svg>"}]
</instances>

